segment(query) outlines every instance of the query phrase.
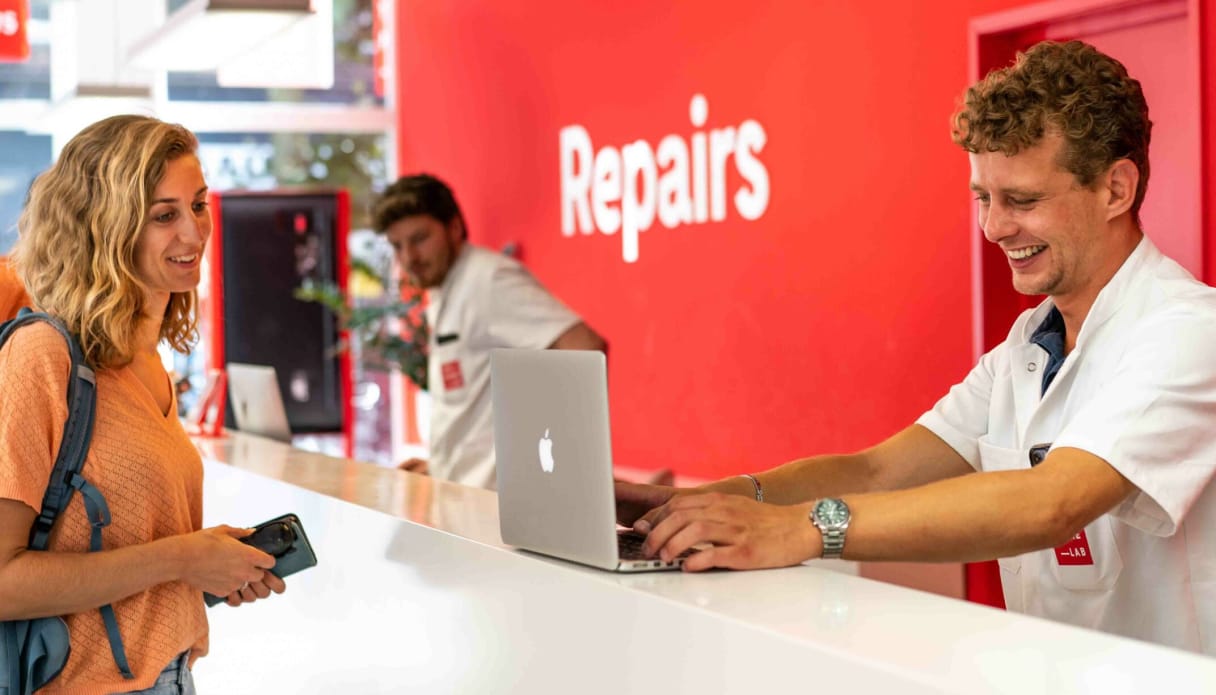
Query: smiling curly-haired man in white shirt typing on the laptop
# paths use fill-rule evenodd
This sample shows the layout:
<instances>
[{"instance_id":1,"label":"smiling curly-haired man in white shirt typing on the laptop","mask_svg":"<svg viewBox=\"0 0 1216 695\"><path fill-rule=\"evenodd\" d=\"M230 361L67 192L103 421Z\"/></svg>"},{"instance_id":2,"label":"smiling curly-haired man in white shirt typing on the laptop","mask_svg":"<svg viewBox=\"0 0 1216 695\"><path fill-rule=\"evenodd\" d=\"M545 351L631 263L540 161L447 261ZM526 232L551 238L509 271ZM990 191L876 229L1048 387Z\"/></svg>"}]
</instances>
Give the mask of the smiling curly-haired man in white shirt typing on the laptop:
<instances>
[{"instance_id":1,"label":"smiling curly-haired man in white shirt typing on the laptop","mask_svg":"<svg viewBox=\"0 0 1216 695\"><path fill-rule=\"evenodd\" d=\"M1010 610L1216 654L1216 292L1144 236L1139 83L1079 41L972 86L953 137L1013 286L1046 294L914 424L694 490L618 487L686 570L997 558ZM766 502L766 503L765 503Z\"/></svg>"}]
</instances>

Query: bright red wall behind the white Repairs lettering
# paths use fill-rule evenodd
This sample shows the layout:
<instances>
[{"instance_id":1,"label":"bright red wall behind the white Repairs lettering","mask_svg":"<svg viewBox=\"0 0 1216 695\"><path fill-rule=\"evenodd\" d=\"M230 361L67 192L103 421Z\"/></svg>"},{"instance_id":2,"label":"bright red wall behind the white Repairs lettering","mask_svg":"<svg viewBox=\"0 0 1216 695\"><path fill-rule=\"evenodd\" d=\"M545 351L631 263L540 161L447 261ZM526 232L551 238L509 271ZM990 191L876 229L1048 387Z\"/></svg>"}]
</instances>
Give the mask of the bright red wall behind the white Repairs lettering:
<instances>
[{"instance_id":1,"label":"bright red wall behind the white Repairs lettering","mask_svg":"<svg viewBox=\"0 0 1216 695\"><path fill-rule=\"evenodd\" d=\"M456 190L610 345L617 463L716 478L872 443L973 362L967 22L1024 2L467 0L398 6L400 171ZM704 128L689 100L704 95ZM559 139L754 119L762 216L562 231ZM749 186L727 166L727 193Z\"/></svg>"}]
</instances>

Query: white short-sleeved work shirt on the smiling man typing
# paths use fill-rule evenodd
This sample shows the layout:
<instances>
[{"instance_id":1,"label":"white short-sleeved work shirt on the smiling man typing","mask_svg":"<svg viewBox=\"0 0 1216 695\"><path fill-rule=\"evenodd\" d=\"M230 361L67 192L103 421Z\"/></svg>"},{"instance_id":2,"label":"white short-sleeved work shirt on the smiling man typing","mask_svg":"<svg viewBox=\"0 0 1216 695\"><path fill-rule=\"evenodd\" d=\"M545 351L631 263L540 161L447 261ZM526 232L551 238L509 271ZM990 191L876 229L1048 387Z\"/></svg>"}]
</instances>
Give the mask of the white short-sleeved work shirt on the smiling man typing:
<instances>
[{"instance_id":1,"label":"white short-sleeved work shirt on the smiling man typing","mask_svg":"<svg viewBox=\"0 0 1216 695\"><path fill-rule=\"evenodd\" d=\"M1030 338L1051 309L1024 312L918 423L978 470L1074 447L1137 487L1085 527L1087 548L1001 559L1009 610L1216 655L1216 290L1145 237L1040 396L1047 352Z\"/></svg>"}]
</instances>

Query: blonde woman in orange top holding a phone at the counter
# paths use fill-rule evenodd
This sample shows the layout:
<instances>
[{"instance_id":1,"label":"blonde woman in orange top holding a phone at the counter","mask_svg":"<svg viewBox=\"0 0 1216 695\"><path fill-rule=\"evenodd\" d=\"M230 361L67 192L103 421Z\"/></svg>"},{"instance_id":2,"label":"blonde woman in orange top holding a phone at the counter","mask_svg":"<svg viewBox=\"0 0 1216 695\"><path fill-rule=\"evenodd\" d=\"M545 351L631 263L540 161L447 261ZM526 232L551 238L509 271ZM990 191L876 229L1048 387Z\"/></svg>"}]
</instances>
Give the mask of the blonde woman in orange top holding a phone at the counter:
<instances>
[{"instance_id":1,"label":"blonde woman in orange top holding a phone at the counter","mask_svg":"<svg viewBox=\"0 0 1216 695\"><path fill-rule=\"evenodd\" d=\"M185 350L212 231L195 136L120 115L98 122L40 175L18 222L13 261L33 303L79 337L96 373L96 422L81 474L112 522L90 553L81 496L46 552L29 530L63 436L71 358L33 323L0 350L0 620L63 616L72 652L44 693L193 693L207 652L202 592L230 605L282 592L274 558L202 529L202 462L176 418L157 355ZM97 610L112 605L130 674L116 667Z\"/></svg>"}]
</instances>

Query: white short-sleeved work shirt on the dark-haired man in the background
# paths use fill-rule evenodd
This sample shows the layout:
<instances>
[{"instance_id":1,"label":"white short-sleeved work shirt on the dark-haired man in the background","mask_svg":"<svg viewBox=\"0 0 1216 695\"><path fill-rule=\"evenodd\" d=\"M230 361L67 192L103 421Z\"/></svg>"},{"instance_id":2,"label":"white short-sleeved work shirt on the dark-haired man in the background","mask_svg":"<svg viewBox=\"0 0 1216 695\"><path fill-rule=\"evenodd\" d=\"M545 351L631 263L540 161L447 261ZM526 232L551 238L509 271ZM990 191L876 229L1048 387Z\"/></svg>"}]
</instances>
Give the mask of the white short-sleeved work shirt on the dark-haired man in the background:
<instances>
[{"instance_id":1,"label":"white short-sleeved work shirt on the dark-haired man in the background","mask_svg":"<svg viewBox=\"0 0 1216 695\"><path fill-rule=\"evenodd\" d=\"M518 261L468 243L428 300L430 475L494 490L490 349L542 350L580 318Z\"/></svg>"}]
</instances>

